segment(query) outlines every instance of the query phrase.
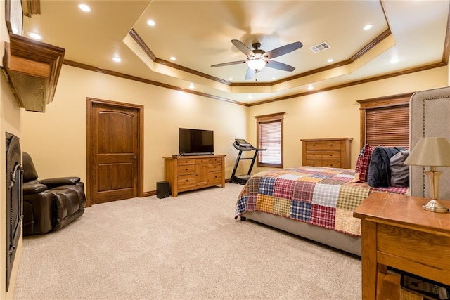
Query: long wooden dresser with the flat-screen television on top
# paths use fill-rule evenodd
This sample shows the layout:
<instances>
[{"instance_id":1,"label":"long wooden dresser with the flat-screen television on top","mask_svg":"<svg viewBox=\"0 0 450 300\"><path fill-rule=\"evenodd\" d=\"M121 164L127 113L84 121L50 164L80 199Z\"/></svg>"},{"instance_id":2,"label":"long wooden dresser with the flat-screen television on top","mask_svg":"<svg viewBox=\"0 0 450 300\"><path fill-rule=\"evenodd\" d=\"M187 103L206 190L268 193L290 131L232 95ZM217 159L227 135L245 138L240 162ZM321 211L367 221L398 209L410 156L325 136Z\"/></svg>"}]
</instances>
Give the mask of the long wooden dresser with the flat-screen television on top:
<instances>
[{"instance_id":1,"label":"long wooden dresser with the flat-screen television on top","mask_svg":"<svg viewBox=\"0 0 450 300\"><path fill-rule=\"evenodd\" d=\"M209 186L225 187L225 155L176 156L164 158L164 179L172 197L179 192Z\"/></svg>"}]
</instances>

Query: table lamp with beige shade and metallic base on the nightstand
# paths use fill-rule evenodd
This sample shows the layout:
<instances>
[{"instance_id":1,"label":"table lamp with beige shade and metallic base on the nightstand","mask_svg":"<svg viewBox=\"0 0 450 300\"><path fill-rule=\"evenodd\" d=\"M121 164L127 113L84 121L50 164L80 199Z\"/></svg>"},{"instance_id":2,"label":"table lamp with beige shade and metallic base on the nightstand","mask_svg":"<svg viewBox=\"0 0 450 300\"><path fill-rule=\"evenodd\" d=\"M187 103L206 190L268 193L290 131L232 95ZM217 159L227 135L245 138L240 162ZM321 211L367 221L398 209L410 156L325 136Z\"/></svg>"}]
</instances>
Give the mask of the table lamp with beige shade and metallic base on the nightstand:
<instances>
[{"instance_id":1,"label":"table lamp with beige shade and metallic base on the nightstand","mask_svg":"<svg viewBox=\"0 0 450 300\"><path fill-rule=\"evenodd\" d=\"M422 209L433 212L448 212L448 208L437 202L439 178L442 172L437 171L436 167L450 167L450 141L443 136L420 138L404 164L430 166L430 171L425 171L425 174L427 174L430 182L431 200L427 204L423 204Z\"/></svg>"}]
</instances>

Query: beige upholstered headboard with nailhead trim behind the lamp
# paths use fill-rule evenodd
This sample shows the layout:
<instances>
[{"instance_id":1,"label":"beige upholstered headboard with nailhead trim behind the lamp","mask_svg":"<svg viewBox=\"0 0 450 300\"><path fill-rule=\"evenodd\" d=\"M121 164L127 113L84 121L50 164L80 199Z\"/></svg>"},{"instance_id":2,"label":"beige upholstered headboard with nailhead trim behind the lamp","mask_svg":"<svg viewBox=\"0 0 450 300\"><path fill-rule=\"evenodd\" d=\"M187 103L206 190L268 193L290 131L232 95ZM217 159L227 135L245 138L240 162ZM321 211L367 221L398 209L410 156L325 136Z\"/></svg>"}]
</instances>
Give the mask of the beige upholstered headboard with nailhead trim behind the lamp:
<instances>
[{"instance_id":1,"label":"beige upholstered headboard with nailhead trim behind the lamp","mask_svg":"<svg viewBox=\"0 0 450 300\"><path fill-rule=\"evenodd\" d=\"M450 87L419 91L411 96L409 102L410 146L414 148L421 137L445 136L450 139ZM450 168L437 168L443 171L439 182L439 198L450 199ZM425 168L411 166L411 195L430 197Z\"/></svg>"}]
</instances>

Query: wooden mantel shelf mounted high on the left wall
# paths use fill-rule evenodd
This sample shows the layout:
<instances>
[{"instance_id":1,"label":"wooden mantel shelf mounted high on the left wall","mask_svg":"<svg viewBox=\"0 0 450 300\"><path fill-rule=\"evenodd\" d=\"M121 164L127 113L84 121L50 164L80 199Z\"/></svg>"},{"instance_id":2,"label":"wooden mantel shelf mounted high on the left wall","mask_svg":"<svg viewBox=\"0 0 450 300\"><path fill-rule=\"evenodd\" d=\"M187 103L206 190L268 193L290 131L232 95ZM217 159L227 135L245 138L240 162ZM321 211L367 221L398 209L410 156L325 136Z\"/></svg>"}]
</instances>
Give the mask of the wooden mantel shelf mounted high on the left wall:
<instances>
[{"instance_id":1,"label":"wooden mantel shelf mounted high on the left wall","mask_svg":"<svg viewBox=\"0 0 450 300\"><path fill-rule=\"evenodd\" d=\"M3 70L20 107L45 112L53 101L65 49L9 34Z\"/></svg>"}]
</instances>

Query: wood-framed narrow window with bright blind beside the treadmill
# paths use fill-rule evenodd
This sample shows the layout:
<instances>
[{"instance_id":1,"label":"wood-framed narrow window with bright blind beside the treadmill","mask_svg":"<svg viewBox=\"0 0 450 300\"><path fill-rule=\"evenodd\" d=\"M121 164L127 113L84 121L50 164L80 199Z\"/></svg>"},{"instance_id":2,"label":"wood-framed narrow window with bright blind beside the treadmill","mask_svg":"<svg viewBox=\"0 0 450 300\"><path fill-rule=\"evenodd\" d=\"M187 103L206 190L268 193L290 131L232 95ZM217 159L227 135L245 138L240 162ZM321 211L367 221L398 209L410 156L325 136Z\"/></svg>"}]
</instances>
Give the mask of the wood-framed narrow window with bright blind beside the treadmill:
<instances>
[{"instance_id":1,"label":"wood-framed narrow window with bright blind beside the treadmill","mask_svg":"<svg viewBox=\"0 0 450 300\"><path fill-rule=\"evenodd\" d=\"M256 117L258 167L283 167L283 115L278 112Z\"/></svg>"}]
</instances>

